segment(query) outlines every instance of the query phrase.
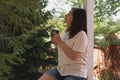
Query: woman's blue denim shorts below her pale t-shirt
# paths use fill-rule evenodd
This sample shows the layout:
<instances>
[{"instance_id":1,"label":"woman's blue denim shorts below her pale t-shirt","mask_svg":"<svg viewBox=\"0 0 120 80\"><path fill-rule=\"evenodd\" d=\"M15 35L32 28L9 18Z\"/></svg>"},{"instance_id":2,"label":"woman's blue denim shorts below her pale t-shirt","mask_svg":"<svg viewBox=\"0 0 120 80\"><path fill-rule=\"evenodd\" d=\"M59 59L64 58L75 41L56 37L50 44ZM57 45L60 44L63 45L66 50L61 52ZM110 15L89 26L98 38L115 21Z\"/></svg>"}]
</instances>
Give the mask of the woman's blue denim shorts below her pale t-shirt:
<instances>
[{"instance_id":1,"label":"woman's blue denim shorts below her pale t-shirt","mask_svg":"<svg viewBox=\"0 0 120 80\"><path fill-rule=\"evenodd\" d=\"M77 77L77 76L61 76L57 68L48 70L46 74L50 75L54 80L87 80L86 78Z\"/></svg>"}]
</instances>

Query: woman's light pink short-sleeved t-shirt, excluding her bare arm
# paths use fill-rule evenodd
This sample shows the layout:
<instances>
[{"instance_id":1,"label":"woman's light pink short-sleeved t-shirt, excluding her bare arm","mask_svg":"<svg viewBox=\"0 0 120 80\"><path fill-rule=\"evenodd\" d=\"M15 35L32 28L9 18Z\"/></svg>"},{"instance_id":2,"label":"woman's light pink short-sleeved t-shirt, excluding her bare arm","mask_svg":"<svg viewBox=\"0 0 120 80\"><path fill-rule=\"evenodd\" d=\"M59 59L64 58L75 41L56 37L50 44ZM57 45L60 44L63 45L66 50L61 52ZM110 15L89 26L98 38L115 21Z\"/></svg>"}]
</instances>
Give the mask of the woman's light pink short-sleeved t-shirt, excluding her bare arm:
<instances>
[{"instance_id":1,"label":"woman's light pink short-sleeved t-shirt, excluding her bare arm","mask_svg":"<svg viewBox=\"0 0 120 80\"><path fill-rule=\"evenodd\" d=\"M70 59L64 51L58 48L57 69L62 76L73 75L87 78L87 35L84 31L78 32L73 38L68 39L68 33L64 33L62 41L72 50L82 52L77 60Z\"/></svg>"}]
</instances>

